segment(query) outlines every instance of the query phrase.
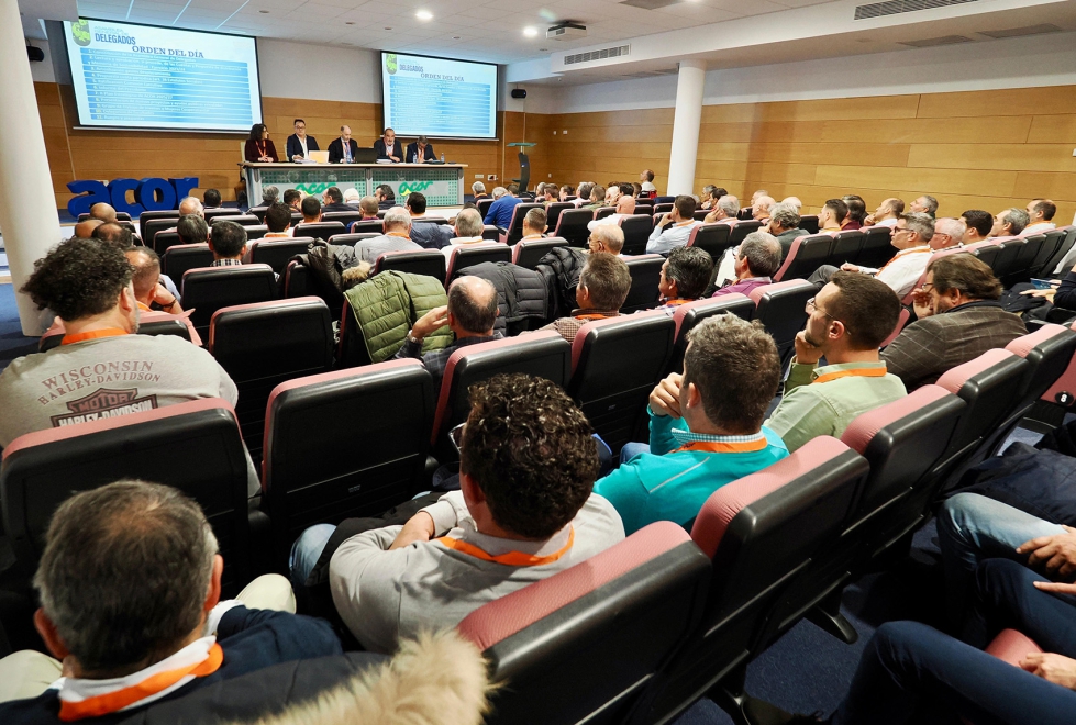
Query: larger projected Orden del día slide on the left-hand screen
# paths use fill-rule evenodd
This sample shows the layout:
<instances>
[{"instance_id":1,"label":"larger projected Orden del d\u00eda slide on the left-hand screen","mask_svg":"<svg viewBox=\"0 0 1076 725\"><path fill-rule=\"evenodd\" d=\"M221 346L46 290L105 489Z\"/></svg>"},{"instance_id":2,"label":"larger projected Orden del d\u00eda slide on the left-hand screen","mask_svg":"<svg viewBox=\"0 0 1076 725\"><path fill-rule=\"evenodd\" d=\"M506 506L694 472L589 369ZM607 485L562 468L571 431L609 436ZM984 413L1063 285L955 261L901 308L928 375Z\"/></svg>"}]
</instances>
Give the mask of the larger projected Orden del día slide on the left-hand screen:
<instances>
[{"instance_id":1,"label":"larger projected Orden del d\u00eda slide on the left-hand screen","mask_svg":"<svg viewBox=\"0 0 1076 725\"><path fill-rule=\"evenodd\" d=\"M84 126L236 131L262 122L253 37L64 22Z\"/></svg>"}]
</instances>

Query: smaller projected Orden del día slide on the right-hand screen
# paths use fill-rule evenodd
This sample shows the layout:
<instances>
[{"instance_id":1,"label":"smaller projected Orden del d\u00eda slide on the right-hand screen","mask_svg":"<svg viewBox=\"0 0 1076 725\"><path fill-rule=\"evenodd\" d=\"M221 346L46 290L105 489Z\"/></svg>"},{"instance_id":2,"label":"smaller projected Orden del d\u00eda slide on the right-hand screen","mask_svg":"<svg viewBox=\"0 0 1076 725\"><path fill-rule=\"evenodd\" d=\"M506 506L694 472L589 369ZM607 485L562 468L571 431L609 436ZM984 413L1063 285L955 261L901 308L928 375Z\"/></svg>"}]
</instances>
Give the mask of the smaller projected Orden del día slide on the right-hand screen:
<instances>
[{"instance_id":1,"label":"smaller projected Orden del d\u00eda slide on the right-hand screen","mask_svg":"<svg viewBox=\"0 0 1076 725\"><path fill-rule=\"evenodd\" d=\"M397 136L497 136L495 65L381 53L381 98Z\"/></svg>"}]
</instances>

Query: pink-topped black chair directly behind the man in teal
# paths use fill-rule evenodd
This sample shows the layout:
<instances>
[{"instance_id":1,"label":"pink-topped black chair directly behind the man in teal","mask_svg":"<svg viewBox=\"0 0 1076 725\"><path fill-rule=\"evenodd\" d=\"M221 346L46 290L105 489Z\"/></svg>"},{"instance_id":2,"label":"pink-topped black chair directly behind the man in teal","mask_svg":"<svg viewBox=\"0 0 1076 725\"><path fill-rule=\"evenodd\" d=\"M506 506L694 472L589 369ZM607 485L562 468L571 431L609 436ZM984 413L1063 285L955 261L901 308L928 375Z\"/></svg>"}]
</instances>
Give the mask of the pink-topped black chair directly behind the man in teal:
<instances>
[{"instance_id":1,"label":"pink-topped black chair directly behind the man in teal","mask_svg":"<svg viewBox=\"0 0 1076 725\"><path fill-rule=\"evenodd\" d=\"M745 668L764 649L769 615L787 583L840 534L866 473L858 454L820 436L710 495L691 526L712 561L702 622L634 722L668 723L707 694L746 722L737 712Z\"/></svg>"}]
</instances>

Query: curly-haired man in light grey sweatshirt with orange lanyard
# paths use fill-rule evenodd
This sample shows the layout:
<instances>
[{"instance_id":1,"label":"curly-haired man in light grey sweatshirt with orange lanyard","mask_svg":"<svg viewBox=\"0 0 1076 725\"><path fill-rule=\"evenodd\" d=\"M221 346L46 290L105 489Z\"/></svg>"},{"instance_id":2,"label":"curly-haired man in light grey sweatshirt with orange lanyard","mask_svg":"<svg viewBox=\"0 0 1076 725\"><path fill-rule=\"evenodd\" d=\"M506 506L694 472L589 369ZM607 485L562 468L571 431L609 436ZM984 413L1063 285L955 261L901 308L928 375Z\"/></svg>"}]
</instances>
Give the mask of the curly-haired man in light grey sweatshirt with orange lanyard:
<instances>
[{"instance_id":1,"label":"curly-haired man in light grey sweatshirt with orange lanyard","mask_svg":"<svg viewBox=\"0 0 1076 725\"><path fill-rule=\"evenodd\" d=\"M598 450L590 424L561 388L501 375L474 386L470 403L461 490L402 526L351 536L331 555L336 612L366 649L391 652L400 638L453 627L624 538L617 511L591 492ZM296 548L318 542L314 558L329 556L325 528L307 529Z\"/></svg>"}]
</instances>

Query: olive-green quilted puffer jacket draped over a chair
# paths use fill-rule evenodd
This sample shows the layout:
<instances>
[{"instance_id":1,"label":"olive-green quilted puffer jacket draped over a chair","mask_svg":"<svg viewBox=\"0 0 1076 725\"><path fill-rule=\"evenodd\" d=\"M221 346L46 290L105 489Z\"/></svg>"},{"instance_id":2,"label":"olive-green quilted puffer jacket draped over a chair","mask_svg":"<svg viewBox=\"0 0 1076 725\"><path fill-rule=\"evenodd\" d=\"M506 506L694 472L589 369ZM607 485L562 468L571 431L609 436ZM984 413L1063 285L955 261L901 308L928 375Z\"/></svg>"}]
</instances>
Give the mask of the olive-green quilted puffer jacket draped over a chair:
<instances>
[{"instance_id":1,"label":"olive-green quilted puffer jacket draped over a chair","mask_svg":"<svg viewBox=\"0 0 1076 725\"><path fill-rule=\"evenodd\" d=\"M414 321L434 308L448 304L448 295L436 277L384 271L344 292L358 328L363 331L370 360L381 362L403 347ZM447 325L422 342L422 352L452 344Z\"/></svg>"}]
</instances>

